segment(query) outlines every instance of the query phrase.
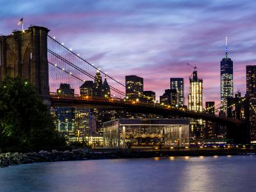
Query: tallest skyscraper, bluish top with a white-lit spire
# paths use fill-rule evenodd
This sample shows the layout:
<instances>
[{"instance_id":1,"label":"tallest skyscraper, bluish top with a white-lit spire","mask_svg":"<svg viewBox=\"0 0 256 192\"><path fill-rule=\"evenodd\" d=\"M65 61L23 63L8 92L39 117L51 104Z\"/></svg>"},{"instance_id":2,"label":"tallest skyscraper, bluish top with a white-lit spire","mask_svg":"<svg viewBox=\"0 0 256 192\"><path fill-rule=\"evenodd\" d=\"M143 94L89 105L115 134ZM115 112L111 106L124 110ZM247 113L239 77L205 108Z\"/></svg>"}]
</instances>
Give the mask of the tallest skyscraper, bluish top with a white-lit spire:
<instances>
[{"instance_id":1,"label":"tallest skyscraper, bluish top with a white-lit spire","mask_svg":"<svg viewBox=\"0 0 256 192\"><path fill-rule=\"evenodd\" d=\"M220 61L221 109L227 113L227 98L233 97L233 61L228 58L227 36L226 54Z\"/></svg>"}]
</instances>

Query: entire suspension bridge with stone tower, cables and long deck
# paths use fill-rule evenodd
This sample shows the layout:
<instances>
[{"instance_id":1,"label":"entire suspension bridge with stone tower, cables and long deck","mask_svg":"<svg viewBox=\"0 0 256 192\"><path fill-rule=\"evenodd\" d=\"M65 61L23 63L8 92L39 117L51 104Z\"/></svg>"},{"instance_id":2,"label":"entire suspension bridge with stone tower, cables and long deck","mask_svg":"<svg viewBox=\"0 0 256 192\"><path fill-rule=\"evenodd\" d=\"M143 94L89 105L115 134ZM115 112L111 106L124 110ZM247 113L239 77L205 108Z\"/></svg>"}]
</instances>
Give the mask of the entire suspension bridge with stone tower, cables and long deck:
<instances>
[{"instance_id":1,"label":"entire suspension bridge with stone tower, cables and long deck","mask_svg":"<svg viewBox=\"0 0 256 192\"><path fill-rule=\"evenodd\" d=\"M72 52L72 49L68 49L48 33L47 28L31 26L25 31L13 31L11 35L0 36L0 79L3 80L7 76L28 79L35 85L48 106L122 108L136 113L202 118L226 125L228 139L233 139L235 143L250 143L250 124L243 120L182 109L168 109L154 104L124 102L124 84L84 60L79 54ZM56 92L60 83L70 83L77 94L79 86L84 81L94 80L96 70L108 77L111 98L115 98L115 102L104 98L93 100L77 96L60 97L58 93L50 94L50 92ZM116 99L117 95L119 99Z\"/></svg>"}]
</instances>

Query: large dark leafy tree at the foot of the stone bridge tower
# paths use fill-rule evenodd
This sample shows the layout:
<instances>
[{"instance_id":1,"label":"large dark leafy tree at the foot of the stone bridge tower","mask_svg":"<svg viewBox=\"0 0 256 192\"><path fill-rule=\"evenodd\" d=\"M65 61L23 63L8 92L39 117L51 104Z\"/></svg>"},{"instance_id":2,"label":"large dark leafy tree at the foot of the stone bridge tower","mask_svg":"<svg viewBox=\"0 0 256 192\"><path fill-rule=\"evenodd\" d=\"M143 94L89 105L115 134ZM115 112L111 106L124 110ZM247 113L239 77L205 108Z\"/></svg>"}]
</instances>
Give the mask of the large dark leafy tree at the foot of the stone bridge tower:
<instances>
[{"instance_id":1,"label":"large dark leafy tree at the foot of the stone bridge tower","mask_svg":"<svg viewBox=\"0 0 256 192\"><path fill-rule=\"evenodd\" d=\"M65 145L35 87L20 77L0 82L0 146L40 150Z\"/></svg>"}]
</instances>

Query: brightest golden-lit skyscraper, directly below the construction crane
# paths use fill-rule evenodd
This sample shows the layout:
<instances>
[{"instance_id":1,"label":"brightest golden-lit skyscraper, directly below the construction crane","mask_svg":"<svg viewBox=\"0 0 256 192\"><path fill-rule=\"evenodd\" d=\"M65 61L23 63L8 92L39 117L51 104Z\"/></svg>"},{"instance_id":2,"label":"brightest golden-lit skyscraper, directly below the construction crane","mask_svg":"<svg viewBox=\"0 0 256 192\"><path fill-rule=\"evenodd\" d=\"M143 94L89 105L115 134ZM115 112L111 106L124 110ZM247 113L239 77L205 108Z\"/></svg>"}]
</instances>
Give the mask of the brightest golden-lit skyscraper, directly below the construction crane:
<instances>
[{"instance_id":1,"label":"brightest golden-lit skyscraper, directly below the construction crane","mask_svg":"<svg viewBox=\"0 0 256 192\"><path fill-rule=\"evenodd\" d=\"M188 109L190 111L203 111L203 79L198 79L196 69L189 78Z\"/></svg>"}]
</instances>

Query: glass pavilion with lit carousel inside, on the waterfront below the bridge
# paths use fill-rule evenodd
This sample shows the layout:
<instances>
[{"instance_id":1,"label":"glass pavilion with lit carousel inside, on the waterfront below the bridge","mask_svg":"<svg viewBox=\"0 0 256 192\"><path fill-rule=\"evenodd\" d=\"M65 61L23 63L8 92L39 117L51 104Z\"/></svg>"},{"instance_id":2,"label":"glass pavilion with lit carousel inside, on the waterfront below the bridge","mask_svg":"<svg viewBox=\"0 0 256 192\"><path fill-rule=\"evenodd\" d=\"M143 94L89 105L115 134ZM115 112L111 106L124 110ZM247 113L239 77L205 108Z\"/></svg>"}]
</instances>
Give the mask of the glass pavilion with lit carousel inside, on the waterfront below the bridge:
<instances>
[{"instance_id":1,"label":"glass pavilion with lit carousel inside, on the waterfront below the bridge","mask_svg":"<svg viewBox=\"0 0 256 192\"><path fill-rule=\"evenodd\" d=\"M104 147L186 147L189 146L187 119L118 118L103 124Z\"/></svg>"}]
</instances>

